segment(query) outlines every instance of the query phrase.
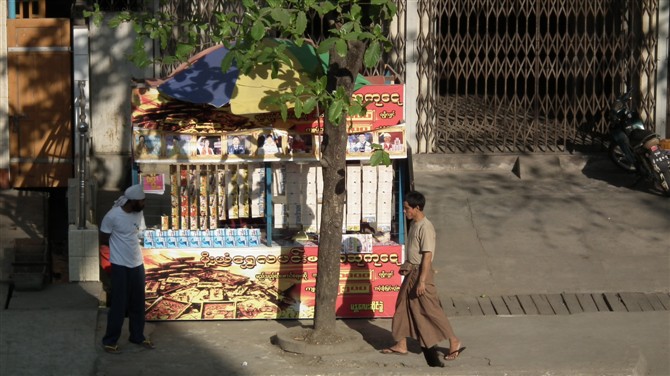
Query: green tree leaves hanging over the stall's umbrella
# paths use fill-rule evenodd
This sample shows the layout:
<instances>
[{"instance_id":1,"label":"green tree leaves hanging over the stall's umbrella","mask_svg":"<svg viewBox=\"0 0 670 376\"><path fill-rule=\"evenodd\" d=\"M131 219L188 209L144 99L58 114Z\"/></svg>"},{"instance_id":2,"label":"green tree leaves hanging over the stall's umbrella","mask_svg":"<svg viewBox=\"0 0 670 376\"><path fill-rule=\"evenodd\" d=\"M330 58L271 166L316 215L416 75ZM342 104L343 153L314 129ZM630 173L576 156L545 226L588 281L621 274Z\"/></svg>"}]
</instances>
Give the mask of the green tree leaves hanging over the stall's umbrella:
<instances>
[{"instance_id":1,"label":"green tree leaves hanging over the stall's umbrella","mask_svg":"<svg viewBox=\"0 0 670 376\"><path fill-rule=\"evenodd\" d=\"M286 49L279 46L262 46L262 40L268 36L294 41L298 46L311 41L305 39L310 14L317 14L326 20L326 35L315 46L319 54L336 52L340 57L350 53L350 43L364 43L366 48L363 63L366 68L375 66L383 51L391 48L384 34L386 25L396 14L396 4L392 0L241 0L244 8L242 15L236 13L215 12L215 23L177 21L170 14L162 12L119 12L109 23L116 27L130 22L138 38L135 39L133 53L130 56L139 67L146 67L155 61L147 55L145 42L158 42L162 51L168 44L175 43L174 53L163 55L159 60L163 64L174 64L187 60L194 54L196 46L201 45L203 35L210 43L223 44L230 50L222 62L227 70L235 62L242 74L248 74L258 65L267 66L273 78L277 76L280 62L291 65ZM86 12L95 22L101 21L101 12L97 4L94 11ZM362 69L363 67L359 67ZM356 72L348 72L355 77ZM317 107L327 109L325 116L332 124L340 124L348 115L365 114L365 103L352 99L347 90L328 87L326 72L313 77L307 85L297 85L289 93L272 98L264 98L268 104L280 109L284 119L289 104L296 116L310 113ZM333 74L341 74L333 73Z\"/></svg>"}]
</instances>

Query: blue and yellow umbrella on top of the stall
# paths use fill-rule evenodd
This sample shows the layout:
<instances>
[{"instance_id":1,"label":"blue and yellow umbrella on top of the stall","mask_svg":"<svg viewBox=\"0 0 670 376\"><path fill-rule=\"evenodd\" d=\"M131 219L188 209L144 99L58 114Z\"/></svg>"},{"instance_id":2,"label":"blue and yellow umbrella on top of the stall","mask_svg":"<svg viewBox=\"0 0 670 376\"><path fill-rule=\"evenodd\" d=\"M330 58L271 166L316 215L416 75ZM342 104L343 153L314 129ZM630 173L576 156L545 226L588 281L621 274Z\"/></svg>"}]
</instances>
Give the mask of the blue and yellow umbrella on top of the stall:
<instances>
[{"instance_id":1,"label":"blue and yellow umbrella on top of the stall","mask_svg":"<svg viewBox=\"0 0 670 376\"><path fill-rule=\"evenodd\" d=\"M264 39L264 46L286 46L291 65L280 62L276 78L270 76L269 66L259 66L249 74L240 75L236 66L221 71L221 61L228 53L223 46L211 47L200 52L180 66L165 79L158 90L172 98L199 104L221 107L230 104L234 114L255 114L277 111L278 108L261 104L263 98L291 91L299 84L306 84L310 74L328 67L327 54L318 55L313 46L301 46L285 39ZM356 88L369 84L361 75Z\"/></svg>"}]
</instances>

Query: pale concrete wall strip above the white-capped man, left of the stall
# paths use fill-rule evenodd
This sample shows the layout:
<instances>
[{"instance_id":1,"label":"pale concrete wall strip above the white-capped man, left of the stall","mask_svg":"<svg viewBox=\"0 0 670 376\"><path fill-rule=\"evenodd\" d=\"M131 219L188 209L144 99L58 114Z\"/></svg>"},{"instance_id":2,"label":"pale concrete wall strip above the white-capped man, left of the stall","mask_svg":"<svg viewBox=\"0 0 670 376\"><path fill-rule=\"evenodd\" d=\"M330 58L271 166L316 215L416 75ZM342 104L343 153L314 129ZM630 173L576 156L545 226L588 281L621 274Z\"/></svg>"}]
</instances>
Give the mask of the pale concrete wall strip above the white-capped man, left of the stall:
<instances>
[{"instance_id":1,"label":"pale concrete wall strip above the white-capped man, left of the stall","mask_svg":"<svg viewBox=\"0 0 670 376\"><path fill-rule=\"evenodd\" d=\"M128 61L135 41L132 28L124 24L111 29L107 21L112 16L90 26L89 168L99 188L123 190L131 181L131 78L152 77L152 69L143 70Z\"/></svg>"}]
</instances>

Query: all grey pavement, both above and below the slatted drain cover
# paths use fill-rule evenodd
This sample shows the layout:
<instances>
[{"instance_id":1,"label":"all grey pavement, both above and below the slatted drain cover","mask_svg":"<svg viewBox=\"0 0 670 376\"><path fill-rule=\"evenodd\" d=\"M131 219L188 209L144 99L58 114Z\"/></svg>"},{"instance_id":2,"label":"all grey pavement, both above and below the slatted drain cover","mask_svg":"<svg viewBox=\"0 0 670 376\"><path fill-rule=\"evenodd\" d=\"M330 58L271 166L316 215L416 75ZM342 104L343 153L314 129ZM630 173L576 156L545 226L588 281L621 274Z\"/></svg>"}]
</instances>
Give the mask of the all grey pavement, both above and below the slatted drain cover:
<instances>
[{"instance_id":1,"label":"all grey pavement, both above and below the slatted drain cover","mask_svg":"<svg viewBox=\"0 0 670 376\"><path fill-rule=\"evenodd\" d=\"M478 157L479 158L479 157ZM438 230L437 283L452 296L670 292L670 199L602 160L415 160ZM520 176L520 177L519 177ZM3 203L4 205L4 203ZM4 240L3 240L4 243ZM273 344L311 321L148 323L155 350L100 347L97 282L15 291L0 311L1 375L670 375L670 311L456 316L463 345L446 368L418 345L383 355L391 320L338 320L351 351L300 355ZM7 286L0 286L5 302ZM447 343L442 343L446 346ZM442 348L442 351L446 351Z\"/></svg>"}]
</instances>

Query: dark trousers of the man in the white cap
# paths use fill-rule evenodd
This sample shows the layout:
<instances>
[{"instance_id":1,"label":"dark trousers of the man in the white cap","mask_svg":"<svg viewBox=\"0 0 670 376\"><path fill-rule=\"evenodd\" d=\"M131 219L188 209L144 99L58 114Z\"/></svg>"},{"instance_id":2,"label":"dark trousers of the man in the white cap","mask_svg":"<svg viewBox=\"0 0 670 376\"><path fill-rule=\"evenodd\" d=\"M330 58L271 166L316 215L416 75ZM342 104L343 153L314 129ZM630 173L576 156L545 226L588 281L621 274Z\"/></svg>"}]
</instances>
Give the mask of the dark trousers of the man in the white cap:
<instances>
[{"instance_id":1,"label":"dark trousers of the man in the white cap","mask_svg":"<svg viewBox=\"0 0 670 376\"><path fill-rule=\"evenodd\" d=\"M103 345L116 345L128 313L130 342L144 341L144 265L127 268L112 264L112 299Z\"/></svg>"}]
</instances>

